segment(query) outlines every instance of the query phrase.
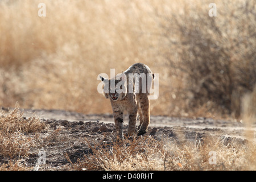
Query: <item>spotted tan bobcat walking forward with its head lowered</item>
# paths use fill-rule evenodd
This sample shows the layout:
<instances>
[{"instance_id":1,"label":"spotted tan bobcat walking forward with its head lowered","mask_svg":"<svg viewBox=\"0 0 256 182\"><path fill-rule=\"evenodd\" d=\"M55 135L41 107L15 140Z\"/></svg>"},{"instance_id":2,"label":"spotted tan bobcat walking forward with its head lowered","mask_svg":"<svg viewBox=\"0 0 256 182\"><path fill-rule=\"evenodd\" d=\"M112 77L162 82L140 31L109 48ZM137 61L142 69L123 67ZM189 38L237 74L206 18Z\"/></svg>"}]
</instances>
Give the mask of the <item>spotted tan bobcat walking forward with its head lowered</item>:
<instances>
[{"instance_id":1,"label":"spotted tan bobcat walking forward with its head lowered","mask_svg":"<svg viewBox=\"0 0 256 182\"><path fill-rule=\"evenodd\" d=\"M104 94L110 99L115 131L117 136L123 139L123 112L129 114L128 135L136 135L136 119L139 112L138 134L147 133L147 127L150 123L150 88L154 80L150 68L142 63L131 65L125 72L115 76L115 78L107 79L101 77L104 82ZM128 83L128 84L127 84Z\"/></svg>"}]
</instances>

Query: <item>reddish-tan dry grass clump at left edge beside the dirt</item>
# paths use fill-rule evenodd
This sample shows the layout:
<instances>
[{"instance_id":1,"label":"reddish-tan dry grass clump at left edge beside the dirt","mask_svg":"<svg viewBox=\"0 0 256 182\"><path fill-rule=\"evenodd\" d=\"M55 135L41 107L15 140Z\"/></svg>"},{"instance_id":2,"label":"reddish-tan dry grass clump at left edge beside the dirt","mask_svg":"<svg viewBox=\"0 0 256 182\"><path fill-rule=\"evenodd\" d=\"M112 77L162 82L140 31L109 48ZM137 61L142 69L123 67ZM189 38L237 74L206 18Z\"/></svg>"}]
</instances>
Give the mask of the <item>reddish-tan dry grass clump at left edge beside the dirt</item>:
<instances>
[{"instance_id":1,"label":"reddish-tan dry grass clump at left edge beside the dirt","mask_svg":"<svg viewBox=\"0 0 256 182\"><path fill-rule=\"evenodd\" d=\"M27 133L43 131L45 124L36 116L24 118L19 107L5 113L0 111L0 156L5 159L0 170L28 170L25 159L31 147L39 145L36 137L30 137ZM2 162L1 162L2 163Z\"/></svg>"}]
</instances>

